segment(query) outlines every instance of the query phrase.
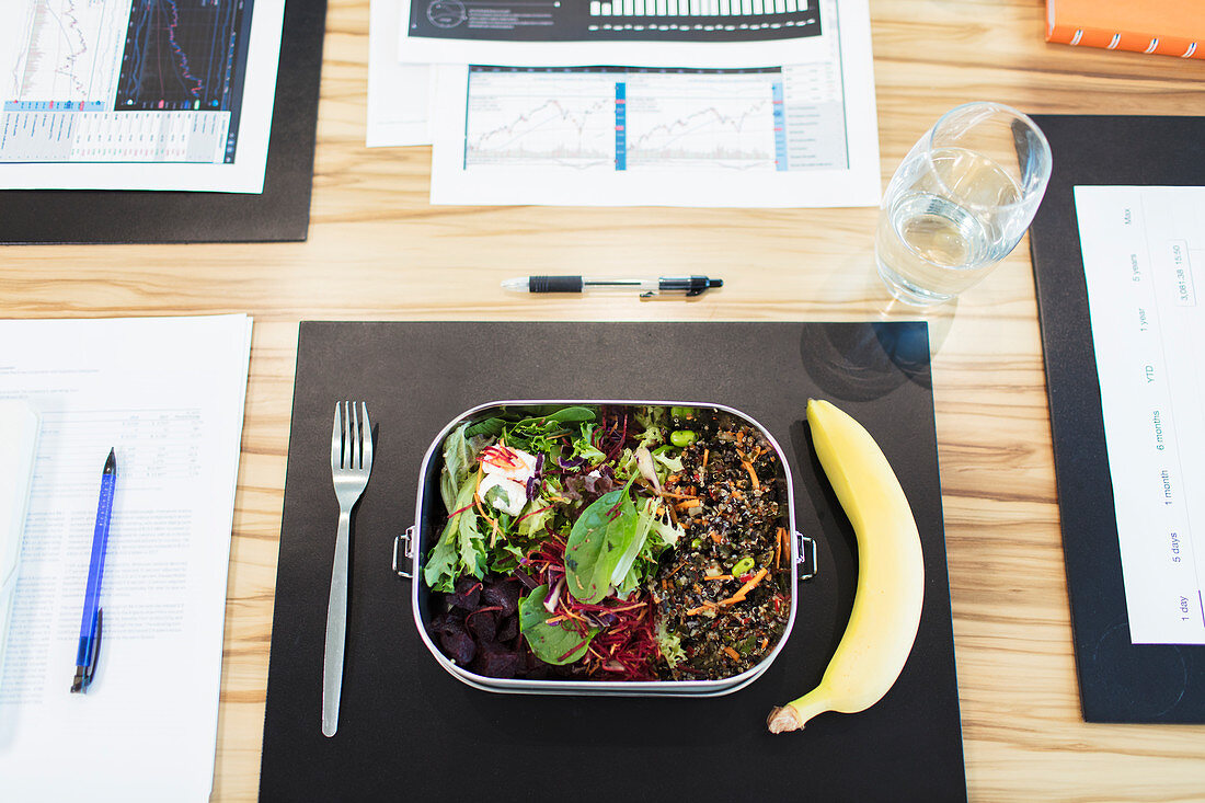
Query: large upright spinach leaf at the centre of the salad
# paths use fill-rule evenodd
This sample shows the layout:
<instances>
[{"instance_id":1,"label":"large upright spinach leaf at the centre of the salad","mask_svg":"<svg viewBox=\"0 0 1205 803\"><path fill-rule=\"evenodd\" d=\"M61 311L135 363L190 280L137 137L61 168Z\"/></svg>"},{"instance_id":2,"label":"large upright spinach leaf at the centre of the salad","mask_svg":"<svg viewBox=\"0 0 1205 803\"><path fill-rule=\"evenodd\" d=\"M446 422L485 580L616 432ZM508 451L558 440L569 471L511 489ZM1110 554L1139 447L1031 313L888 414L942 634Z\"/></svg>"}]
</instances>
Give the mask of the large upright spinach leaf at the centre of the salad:
<instances>
[{"instance_id":1,"label":"large upright spinach leaf at the centre of the salad","mask_svg":"<svg viewBox=\"0 0 1205 803\"><path fill-rule=\"evenodd\" d=\"M596 603L611 593L611 575L637 529L627 486L604 493L582 511L565 546L565 579L575 599Z\"/></svg>"}]
</instances>

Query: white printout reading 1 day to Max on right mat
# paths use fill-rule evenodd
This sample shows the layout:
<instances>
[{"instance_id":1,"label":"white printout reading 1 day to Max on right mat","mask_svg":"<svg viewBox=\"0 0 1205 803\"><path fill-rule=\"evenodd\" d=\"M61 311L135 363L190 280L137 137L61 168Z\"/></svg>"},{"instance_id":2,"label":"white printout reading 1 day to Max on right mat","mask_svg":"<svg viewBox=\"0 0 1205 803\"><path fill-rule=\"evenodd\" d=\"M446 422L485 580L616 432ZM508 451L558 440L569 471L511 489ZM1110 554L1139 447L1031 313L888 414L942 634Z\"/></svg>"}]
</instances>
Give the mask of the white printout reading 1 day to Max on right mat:
<instances>
[{"instance_id":1,"label":"white printout reading 1 day to Max on right mat","mask_svg":"<svg viewBox=\"0 0 1205 803\"><path fill-rule=\"evenodd\" d=\"M1205 188L1076 187L1135 644L1205 644Z\"/></svg>"}]
</instances>

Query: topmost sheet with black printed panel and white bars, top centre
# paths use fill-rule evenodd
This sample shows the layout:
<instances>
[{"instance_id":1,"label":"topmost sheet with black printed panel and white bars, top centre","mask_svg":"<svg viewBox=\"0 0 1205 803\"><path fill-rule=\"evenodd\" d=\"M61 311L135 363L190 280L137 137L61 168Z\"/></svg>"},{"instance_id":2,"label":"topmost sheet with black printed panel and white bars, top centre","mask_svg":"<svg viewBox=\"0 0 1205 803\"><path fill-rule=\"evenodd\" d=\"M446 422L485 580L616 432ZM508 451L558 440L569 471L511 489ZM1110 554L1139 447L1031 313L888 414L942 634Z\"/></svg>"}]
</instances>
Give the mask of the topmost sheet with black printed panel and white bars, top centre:
<instances>
[{"instance_id":1,"label":"topmost sheet with black printed panel and white bars, top centre","mask_svg":"<svg viewBox=\"0 0 1205 803\"><path fill-rule=\"evenodd\" d=\"M830 17L821 8L817 19L816 7L817 0L402 0L399 53L417 64L793 64L823 49L812 34L829 30Z\"/></svg>"}]
</instances>

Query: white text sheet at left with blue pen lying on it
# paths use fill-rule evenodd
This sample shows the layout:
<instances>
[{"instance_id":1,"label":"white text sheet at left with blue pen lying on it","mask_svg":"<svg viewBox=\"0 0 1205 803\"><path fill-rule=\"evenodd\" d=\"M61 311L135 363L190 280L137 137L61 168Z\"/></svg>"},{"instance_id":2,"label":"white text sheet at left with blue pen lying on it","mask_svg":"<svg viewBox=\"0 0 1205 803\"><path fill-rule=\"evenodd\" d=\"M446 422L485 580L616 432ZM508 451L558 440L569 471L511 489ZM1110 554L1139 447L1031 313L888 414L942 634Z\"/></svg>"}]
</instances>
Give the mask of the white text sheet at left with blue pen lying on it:
<instances>
[{"instance_id":1,"label":"white text sheet at left with blue pen lying on it","mask_svg":"<svg viewBox=\"0 0 1205 803\"><path fill-rule=\"evenodd\" d=\"M207 801L251 320L0 321L42 416L0 684L6 801ZM100 473L118 461L95 676L75 672Z\"/></svg>"}]
</instances>

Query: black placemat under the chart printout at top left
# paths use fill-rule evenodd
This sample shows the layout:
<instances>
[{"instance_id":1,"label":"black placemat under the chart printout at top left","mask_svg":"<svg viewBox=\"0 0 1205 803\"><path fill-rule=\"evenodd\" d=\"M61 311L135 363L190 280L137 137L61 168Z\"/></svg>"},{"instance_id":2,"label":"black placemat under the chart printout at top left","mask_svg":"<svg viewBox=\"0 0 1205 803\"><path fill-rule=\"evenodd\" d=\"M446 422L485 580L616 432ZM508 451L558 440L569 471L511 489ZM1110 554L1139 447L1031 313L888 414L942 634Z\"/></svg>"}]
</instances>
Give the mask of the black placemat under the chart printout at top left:
<instances>
[{"instance_id":1,"label":"black placemat under the chart printout at top left","mask_svg":"<svg viewBox=\"0 0 1205 803\"><path fill-rule=\"evenodd\" d=\"M305 240L325 19L327 0L286 2L261 194L5 189L0 242Z\"/></svg>"}]
</instances>

